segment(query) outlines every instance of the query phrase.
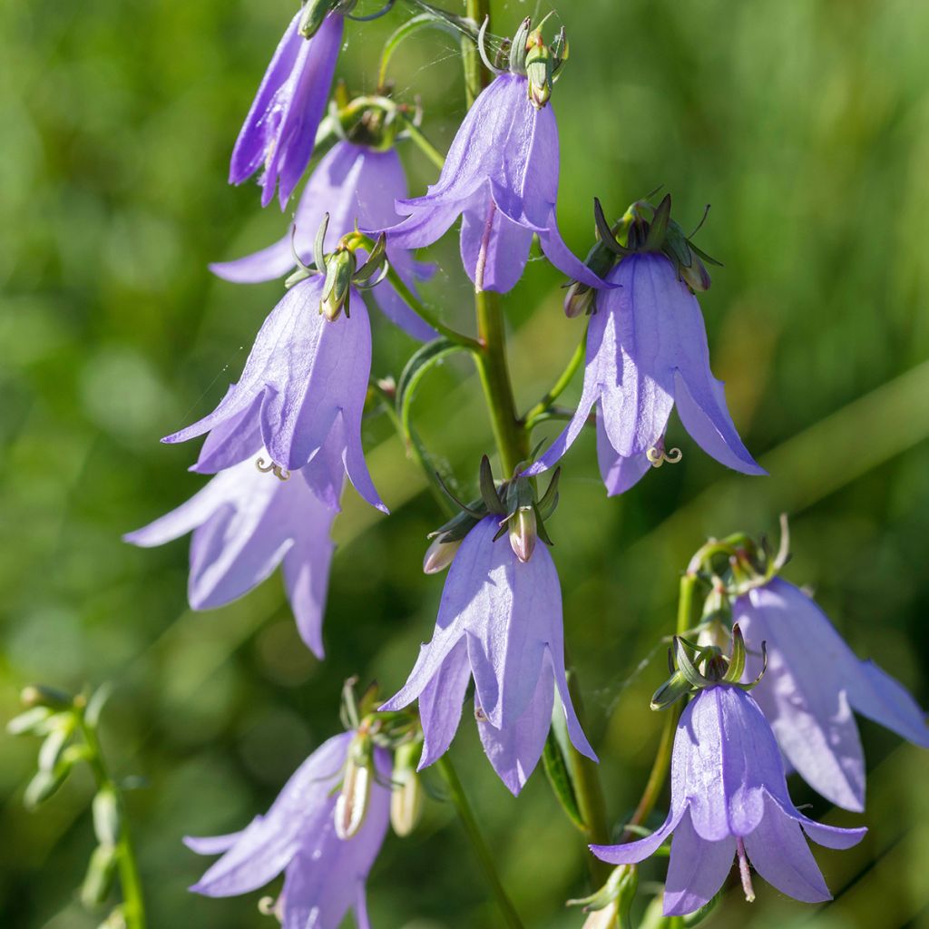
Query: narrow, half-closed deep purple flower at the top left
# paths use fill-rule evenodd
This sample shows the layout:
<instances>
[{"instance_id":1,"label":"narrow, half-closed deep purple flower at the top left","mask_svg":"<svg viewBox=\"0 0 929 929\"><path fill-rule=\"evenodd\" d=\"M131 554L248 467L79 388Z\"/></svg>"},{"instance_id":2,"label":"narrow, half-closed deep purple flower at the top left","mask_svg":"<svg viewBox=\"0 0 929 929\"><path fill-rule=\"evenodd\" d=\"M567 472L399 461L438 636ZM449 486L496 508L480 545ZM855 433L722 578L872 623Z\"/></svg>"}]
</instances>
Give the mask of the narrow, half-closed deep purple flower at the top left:
<instances>
[{"instance_id":1,"label":"narrow, half-closed deep purple flower at the top left","mask_svg":"<svg viewBox=\"0 0 929 929\"><path fill-rule=\"evenodd\" d=\"M326 17L312 39L299 33L300 17L298 12L291 20L274 52L229 164L230 184L241 184L263 167L261 205L278 188L281 209L309 164L342 45L340 14Z\"/></svg>"}]
</instances>

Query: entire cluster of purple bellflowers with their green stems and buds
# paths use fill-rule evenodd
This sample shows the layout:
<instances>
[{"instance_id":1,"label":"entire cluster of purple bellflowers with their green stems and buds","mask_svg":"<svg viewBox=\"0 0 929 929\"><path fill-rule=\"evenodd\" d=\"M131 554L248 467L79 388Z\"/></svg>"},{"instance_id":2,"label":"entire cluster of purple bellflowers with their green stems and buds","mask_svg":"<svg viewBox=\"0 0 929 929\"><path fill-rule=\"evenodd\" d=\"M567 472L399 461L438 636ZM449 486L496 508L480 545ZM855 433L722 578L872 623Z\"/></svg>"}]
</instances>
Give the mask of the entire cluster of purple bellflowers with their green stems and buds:
<instances>
[{"instance_id":1,"label":"entire cluster of purple bellflowers with their green stems and buds","mask_svg":"<svg viewBox=\"0 0 929 929\"><path fill-rule=\"evenodd\" d=\"M422 803L416 771L437 763L448 771L444 756L472 681L480 740L504 785L518 794L544 756L569 815L593 832L583 820L589 810L578 803L587 787L577 772L594 770L597 756L569 687L546 525L558 503L559 471L546 491L538 486L588 425L595 426L610 496L630 490L649 468L679 460L679 450L665 448L673 410L719 463L765 474L710 367L696 294L710 287L706 264L713 259L674 222L670 196L657 206L634 203L613 225L597 203L598 241L586 262L561 237L552 97L568 57L564 33L549 45L542 26L525 20L511 40L494 40L491 57L486 22L478 27L421 6L425 20L473 41L473 63L479 52L493 75L444 160L420 132L420 114L385 87L352 101L340 87L330 104L346 20L356 19L353 0L309 0L287 27L235 143L229 180L257 174L262 205L277 191L284 208L314 153L321 157L278 242L211 266L234 283L286 278L286 290L216 408L164 438L205 437L190 470L212 476L209 483L125 536L152 546L192 533L195 609L229 603L281 565L300 635L322 658L331 533L346 485L387 513L365 461L366 413L396 399L403 438L435 478L409 422L411 385L454 350L470 353L478 366L506 473L494 479L485 456L478 499L452 497L454 515L433 533L425 573L448 569L448 576L435 630L406 683L380 705L373 691L356 705L349 688L347 731L301 765L266 816L231 835L187 840L196 852L222 855L192 888L206 896L252 891L283 871L283 890L269 909L285 929L335 929L348 910L368 926L365 882L388 821L399 835L410 831ZM405 138L441 160L422 196L408 197L396 149ZM534 415L518 416L504 345L493 341L503 320L487 326L478 312L472 338L420 302L414 287L431 268L413 250L437 242L459 217L462 264L478 309L488 306L486 292L516 286L536 240L569 278L569 317L590 316L573 413L554 406L569 370ZM389 324L426 343L398 384L372 382L373 345L385 321L376 314L372 321L369 293ZM568 419L561 434L541 455L541 446L530 452L532 428L559 415ZM707 585L707 606L695 629L678 630L672 677L653 700L656 709L688 700L670 759L670 812L638 841L591 846L625 869L591 898L608 918L622 895L635 894L629 869L671 836L663 896L669 917L706 906L734 861L750 899L752 868L797 899L827 899L806 838L845 848L865 830L832 828L801 813L783 759L831 802L860 811L865 765L854 711L929 747L914 700L876 665L859 661L816 604L779 577L782 554L739 537L708 543L687 570L692 588ZM644 824L631 825L630 835Z\"/></svg>"}]
</instances>

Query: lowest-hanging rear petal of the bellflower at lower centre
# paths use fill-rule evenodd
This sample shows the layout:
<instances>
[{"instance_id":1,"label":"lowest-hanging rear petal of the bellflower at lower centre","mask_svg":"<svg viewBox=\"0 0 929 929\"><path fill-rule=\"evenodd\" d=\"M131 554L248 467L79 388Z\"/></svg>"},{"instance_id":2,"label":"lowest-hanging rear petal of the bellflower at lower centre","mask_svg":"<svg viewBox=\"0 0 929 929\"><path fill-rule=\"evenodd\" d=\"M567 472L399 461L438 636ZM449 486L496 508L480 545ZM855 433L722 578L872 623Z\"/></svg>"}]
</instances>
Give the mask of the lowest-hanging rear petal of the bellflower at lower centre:
<instances>
[{"instance_id":1,"label":"lowest-hanging rear petal of the bellflower at lower centre","mask_svg":"<svg viewBox=\"0 0 929 929\"><path fill-rule=\"evenodd\" d=\"M475 695L477 697L477 695ZM552 705L555 702L554 680L550 674L540 674L535 694L526 711L516 722L497 728L478 713L478 732L484 752L493 769L517 796L539 763L552 726ZM476 706L476 710L481 708Z\"/></svg>"}]
</instances>

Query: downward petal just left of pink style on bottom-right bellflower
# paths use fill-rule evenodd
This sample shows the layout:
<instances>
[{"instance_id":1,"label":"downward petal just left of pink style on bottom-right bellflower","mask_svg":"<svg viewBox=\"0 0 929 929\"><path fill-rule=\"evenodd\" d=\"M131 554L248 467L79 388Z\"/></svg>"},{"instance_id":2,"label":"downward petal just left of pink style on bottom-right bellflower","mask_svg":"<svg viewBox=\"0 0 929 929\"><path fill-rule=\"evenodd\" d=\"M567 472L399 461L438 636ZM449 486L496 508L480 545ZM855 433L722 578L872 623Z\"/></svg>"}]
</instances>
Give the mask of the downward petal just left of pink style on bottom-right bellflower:
<instances>
[{"instance_id":1,"label":"downward petal just left of pink style on bottom-right bellflower","mask_svg":"<svg viewBox=\"0 0 929 929\"><path fill-rule=\"evenodd\" d=\"M735 840L726 837L710 842L701 838L685 814L671 842L664 915L686 916L709 903L726 881L735 855Z\"/></svg>"}]
</instances>

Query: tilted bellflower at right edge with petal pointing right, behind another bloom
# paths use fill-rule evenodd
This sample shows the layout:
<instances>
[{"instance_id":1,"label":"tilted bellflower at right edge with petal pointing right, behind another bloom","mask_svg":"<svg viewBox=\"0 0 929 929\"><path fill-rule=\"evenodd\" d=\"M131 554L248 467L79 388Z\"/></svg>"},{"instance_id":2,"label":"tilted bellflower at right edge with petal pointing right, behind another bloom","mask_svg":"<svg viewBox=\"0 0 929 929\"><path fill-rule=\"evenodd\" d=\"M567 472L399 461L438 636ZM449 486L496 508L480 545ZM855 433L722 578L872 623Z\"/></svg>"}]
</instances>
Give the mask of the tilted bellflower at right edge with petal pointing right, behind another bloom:
<instances>
[{"instance_id":1,"label":"tilted bellflower at right edge with petal pointing right, behind another bloom","mask_svg":"<svg viewBox=\"0 0 929 929\"><path fill-rule=\"evenodd\" d=\"M767 671L752 691L781 751L832 803L862 810L865 759L855 713L929 748L925 714L907 690L872 661L860 661L825 613L780 578L739 597L733 607L752 657L767 643Z\"/></svg>"}]
</instances>

